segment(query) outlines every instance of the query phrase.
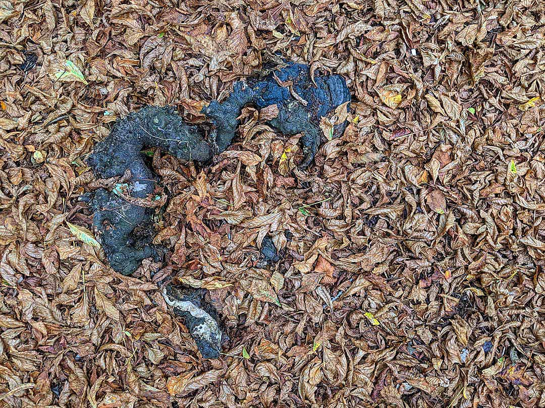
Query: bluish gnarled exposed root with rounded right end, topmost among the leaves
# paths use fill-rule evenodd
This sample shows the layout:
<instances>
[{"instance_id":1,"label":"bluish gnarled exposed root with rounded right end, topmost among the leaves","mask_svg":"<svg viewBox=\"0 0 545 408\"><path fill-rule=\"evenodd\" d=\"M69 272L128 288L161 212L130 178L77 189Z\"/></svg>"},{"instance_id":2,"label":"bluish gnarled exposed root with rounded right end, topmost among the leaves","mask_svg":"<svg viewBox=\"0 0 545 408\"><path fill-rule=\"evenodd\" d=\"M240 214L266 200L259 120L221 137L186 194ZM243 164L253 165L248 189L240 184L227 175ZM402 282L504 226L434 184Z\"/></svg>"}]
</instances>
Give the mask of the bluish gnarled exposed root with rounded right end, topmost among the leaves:
<instances>
[{"instance_id":1,"label":"bluish gnarled exposed root with rounded right end, topmost among the leaves","mask_svg":"<svg viewBox=\"0 0 545 408\"><path fill-rule=\"evenodd\" d=\"M244 106L253 104L261 109L276 104L278 116L268 123L286 135L302 134L304 158L299 167L305 169L320 146L320 118L349 101L350 91L343 77L314 75L313 82L307 65L288 63L269 71L264 77L235 83L225 101L212 101L202 112L216 125L217 146L223 151L231 144L239 125L237 118ZM346 122L336 125L334 137L341 135L346 125Z\"/></svg>"}]
</instances>

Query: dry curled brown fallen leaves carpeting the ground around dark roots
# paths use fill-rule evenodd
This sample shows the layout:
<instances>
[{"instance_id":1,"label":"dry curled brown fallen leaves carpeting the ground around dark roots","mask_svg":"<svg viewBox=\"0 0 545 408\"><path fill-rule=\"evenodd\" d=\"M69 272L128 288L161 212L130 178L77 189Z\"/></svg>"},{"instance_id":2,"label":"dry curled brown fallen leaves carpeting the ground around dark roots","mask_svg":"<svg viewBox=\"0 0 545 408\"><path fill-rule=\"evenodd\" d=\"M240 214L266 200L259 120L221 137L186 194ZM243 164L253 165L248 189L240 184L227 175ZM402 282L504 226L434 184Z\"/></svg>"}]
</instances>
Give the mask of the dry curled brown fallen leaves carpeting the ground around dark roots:
<instances>
[{"instance_id":1,"label":"dry curled brown fallen leaves carpeting the ground around dark roots","mask_svg":"<svg viewBox=\"0 0 545 408\"><path fill-rule=\"evenodd\" d=\"M545 405L544 13L0 1L0 404ZM298 137L249 107L210 166L146 152L166 262L114 273L77 199L117 181L82 158L144 104L202 121L276 52L347 80L344 134L324 120L301 172ZM221 358L165 304L169 275L210 290Z\"/></svg>"}]
</instances>

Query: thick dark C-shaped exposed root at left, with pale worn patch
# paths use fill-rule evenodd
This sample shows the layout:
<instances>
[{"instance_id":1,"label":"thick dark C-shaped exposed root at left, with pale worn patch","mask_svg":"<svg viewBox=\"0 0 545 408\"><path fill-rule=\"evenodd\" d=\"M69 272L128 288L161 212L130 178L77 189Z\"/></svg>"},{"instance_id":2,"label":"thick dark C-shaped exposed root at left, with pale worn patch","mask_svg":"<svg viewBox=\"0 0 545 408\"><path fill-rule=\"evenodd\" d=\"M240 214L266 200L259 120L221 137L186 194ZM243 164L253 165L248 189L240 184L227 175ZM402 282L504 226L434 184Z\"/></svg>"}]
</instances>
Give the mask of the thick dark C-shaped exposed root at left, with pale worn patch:
<instances>
[{"instance_id":1,"label":"thick dark C-shaped exposed root at left, with pale worn patch","mask_svg":"<svg viewBox=\"0 0 545 408\"><path fill-rule=\"evenodd\" d=\"M144 146L161 147L184 160L205 161L210 146L196 126L187 125L172 107L147 106L116 122L108 137L95 145L87 160L98 178L123 176L130 170L128 193L144 199L153 193L158 177L144 162ZM153 210L135 205L116 191L99 188L92 199L82 197L93 210L93 225L113 270L132 274L142 259L158 253L153 239ZM141 233L135 234L140 229Z\"/></svg>"}]
</instances>

